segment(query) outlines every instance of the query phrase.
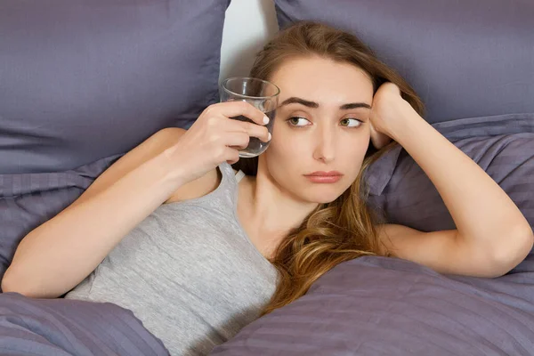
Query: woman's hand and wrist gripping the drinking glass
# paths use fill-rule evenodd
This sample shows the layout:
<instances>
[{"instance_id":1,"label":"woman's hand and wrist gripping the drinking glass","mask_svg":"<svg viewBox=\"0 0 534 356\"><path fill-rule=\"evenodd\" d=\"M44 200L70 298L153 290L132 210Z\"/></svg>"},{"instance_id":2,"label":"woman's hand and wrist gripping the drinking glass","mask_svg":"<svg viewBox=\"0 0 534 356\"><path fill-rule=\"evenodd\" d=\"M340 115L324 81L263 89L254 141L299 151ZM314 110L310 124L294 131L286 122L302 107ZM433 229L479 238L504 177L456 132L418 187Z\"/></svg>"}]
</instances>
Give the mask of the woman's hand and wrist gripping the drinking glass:
<instances>
[{"instance_id":1,"label":"woman's hand and wrist gripping the drinking glass","mask_svg":"<svg viewBox=\"0 0 534 356\"><path fill-rule=\"evenodd\" d=\"M230 117L244 116L254 123ZM269 118L245 101L226 101L207 107L165 154L175 165L174 177L180 184L194 181L223 162L239 160L239 149L248 145L250 137L263 142L271 140L266 125Z\"/></svg>"}]
</instances>

